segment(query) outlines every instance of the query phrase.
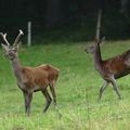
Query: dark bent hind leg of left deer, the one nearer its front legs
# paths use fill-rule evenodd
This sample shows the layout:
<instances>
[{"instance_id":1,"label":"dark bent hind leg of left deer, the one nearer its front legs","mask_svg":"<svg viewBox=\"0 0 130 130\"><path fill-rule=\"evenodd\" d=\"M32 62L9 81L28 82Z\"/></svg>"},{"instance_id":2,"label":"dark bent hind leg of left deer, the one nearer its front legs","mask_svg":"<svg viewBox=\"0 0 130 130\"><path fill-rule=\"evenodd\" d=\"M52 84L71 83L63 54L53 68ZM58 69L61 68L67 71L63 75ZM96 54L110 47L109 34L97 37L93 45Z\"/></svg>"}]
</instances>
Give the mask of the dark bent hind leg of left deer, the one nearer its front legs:
<instances>
[{"instance_id":1,"label":"dark bent hind leg of left deer, the one nearer its front legs","mask_svg":"<svg viewBox=\"0 0 130 130\"><path fill-rule=\"evenodd\" d=\"M48 89L42 90L42 93L43 93L43 95L44 95L44 98L46 98L46 102L47 102L47 103L46 103L46 107L44 107L44 109L43 109L43 112L46 113L47 109L49 108L50 104L51 104L52 99L51 99L51 96L50 96L50 94L49 94L49 92L48 92Z\"/></svg>"}]
</instances>

